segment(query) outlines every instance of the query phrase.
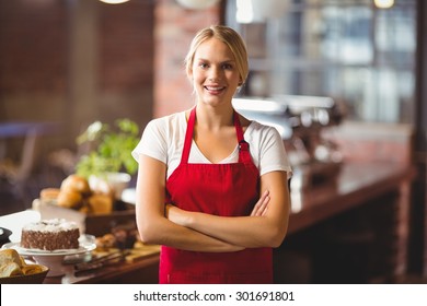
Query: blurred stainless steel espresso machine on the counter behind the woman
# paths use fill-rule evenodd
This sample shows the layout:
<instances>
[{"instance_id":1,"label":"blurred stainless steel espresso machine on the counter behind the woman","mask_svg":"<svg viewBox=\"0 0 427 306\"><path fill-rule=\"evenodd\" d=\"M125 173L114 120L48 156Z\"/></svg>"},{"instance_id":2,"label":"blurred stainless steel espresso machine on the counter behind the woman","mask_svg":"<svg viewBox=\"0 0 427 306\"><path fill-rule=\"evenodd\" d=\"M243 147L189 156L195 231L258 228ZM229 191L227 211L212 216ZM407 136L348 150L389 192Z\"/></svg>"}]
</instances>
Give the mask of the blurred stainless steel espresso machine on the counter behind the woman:
<instances>
[{"instance_id":1,"label":"blurred stainless steel espresso machine on the counter behind the woman","mask_svg":"<svg viewBox=\"0 0 427 306\"><path fill-rule=\"evenodd\" d=\"M279 131L293 169L291 189L336 181L342 154L336 143L322 132L342 122L342 105L330 97L281 95L239 97L233 99L233 106L249 119Z\"/></svg>"}]
</instances>

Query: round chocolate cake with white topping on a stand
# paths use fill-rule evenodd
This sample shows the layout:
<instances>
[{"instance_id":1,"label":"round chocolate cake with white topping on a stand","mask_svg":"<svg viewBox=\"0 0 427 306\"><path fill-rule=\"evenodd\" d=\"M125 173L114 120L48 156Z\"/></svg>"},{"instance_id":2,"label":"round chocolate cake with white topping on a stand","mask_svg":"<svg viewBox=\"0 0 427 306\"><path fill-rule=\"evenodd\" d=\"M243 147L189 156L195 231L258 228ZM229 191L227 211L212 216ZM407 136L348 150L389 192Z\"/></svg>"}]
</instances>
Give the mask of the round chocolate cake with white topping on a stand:
<instances>
[{"instance_id":1,"label":"round chocolate cake with white topping on a stand","mask_svg":"<svg viewBox=\"0 0 427 306\"><path fill-rule=\"evenodd\" d=\"M21 232L21 247L58 250L79 248L80 231L74 222L64 219L43 220L26 224Z\"/></svg>"}]
</instances>

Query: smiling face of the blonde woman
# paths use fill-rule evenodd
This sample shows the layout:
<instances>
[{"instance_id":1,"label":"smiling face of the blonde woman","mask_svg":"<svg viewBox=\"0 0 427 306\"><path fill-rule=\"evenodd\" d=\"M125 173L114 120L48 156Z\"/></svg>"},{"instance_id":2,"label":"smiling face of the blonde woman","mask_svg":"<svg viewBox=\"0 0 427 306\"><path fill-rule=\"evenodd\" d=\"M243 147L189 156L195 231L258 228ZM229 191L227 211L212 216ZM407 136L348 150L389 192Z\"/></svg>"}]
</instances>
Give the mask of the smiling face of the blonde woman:
<instances>
[{"instance_id":1,"label":"smiling face of the blonde woman","mask_svg":"<svg viewBox=\"0 0 427 306\"><path fill-rule=\"evenodd\" d=\"M232 51L215 37L198 46L188 74L193 80L197 101L211 105L231 104L242 82Z\"/></svg>"}]
</instances>

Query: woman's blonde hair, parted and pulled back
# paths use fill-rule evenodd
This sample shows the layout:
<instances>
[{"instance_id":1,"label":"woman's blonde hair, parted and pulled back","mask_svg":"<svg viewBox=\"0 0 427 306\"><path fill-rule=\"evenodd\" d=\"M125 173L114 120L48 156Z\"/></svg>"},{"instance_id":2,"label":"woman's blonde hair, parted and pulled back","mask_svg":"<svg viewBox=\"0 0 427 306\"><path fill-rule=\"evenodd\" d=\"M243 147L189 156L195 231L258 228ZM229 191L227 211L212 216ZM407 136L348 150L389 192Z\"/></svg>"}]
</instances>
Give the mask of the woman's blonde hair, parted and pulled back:
<instances>
[{"instance_id":1,"label":"woman's blonde hair, parted and pulled back","mask_svg":"<svg viewBox=\"0 0 427 306\"><path fill-rule=\"evenodd\" d=\"M193 69L194 55L196 54L197 48L200 44L214 37L224 43L233 54L240 74L240 85L242 85L246 81L249 74L246 45L238 32L224 25L211 25L209 27L205 27L200 30L196 36L194 36L184 61L187 75L189 75Z\"/></svg>"}]
</instances>

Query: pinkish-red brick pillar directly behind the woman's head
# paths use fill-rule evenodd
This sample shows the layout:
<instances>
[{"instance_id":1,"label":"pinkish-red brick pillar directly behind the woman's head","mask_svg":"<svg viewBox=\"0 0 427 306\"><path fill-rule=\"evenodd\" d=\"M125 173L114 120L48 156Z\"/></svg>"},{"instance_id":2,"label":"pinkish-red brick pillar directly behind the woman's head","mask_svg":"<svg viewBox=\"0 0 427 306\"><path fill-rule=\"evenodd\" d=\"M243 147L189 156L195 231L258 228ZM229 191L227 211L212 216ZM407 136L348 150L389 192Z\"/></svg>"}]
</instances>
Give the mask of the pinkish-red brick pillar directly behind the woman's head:
<instances>
[{"instance_id":1,"label":"pinkish-red brick pillar directly behind the woman's head","mask_svg":"<svg viewBox=\"0 0 427 306\"><path fill-rule=\"evenodd\" d=\"M187 10L175 0L155 5L154 117L194 105L193 89L183 61L193 36L201 27L218 24L221 5L208 10Z\"/></svg>"}]
</instances>

